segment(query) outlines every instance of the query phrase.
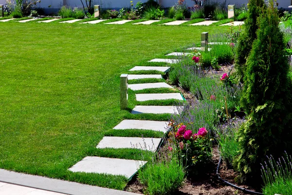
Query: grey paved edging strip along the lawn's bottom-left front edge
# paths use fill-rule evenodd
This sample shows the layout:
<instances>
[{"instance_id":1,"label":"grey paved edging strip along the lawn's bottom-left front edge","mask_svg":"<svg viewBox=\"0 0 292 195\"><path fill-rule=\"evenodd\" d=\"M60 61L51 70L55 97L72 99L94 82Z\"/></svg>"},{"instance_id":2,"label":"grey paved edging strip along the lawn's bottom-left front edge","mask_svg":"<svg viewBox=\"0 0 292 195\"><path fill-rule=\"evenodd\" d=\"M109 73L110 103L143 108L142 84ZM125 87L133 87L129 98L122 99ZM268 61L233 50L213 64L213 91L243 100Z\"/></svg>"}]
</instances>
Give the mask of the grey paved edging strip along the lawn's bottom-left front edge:
<instances>
[{"instance_id":1,"label":"grey paved edging strip along the lawn's bottom-left front edge","mask_svg":"<svg viewBox=\"0 0 292 195\"><path fill-rule=\"evenodd\" d=\"M0 169L0 181L69 195L137 195L135 193L80 184L60 179L33 176Z\"/></svg>"}]
</instances>

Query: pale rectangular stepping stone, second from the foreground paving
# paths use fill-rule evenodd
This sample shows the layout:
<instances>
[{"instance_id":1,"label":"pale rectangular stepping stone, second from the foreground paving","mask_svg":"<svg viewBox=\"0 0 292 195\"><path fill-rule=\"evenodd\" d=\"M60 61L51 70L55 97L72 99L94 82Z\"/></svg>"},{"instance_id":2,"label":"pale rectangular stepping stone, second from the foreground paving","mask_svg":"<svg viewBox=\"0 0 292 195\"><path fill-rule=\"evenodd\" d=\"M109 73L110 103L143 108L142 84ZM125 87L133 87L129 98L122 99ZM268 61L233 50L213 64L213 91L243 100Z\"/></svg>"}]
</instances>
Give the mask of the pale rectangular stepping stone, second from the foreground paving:
<instances>
[{"instance_id":1,"label":"pale rectangular stepping stone, second from the foreground paving","mask_svg":"<svg viewBox=\"0 0 292 195\"><path fill-rule=\"evenodd\" d=\"M103 137L96 148L135 148L155 152L161 138Z\"/></svg>"}]
</instances>

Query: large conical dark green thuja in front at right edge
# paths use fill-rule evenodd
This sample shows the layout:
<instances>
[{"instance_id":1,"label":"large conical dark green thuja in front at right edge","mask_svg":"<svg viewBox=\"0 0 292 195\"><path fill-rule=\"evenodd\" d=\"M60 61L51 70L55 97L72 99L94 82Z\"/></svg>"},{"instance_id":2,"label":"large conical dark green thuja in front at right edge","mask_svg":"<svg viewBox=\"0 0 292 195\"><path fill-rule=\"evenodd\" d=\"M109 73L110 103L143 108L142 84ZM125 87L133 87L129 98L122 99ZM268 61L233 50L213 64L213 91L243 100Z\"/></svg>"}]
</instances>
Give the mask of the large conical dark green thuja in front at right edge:
<instances>
[{"instance_id":1,"label":"large conical dark green thuja in front at right edge","mask_svg":"<svg viewBox=\"0 0 292 195\"><path fill-rule=\"evenodd\" d=\"M238 132L240 155L234 166L249 181L260 178L260 163L266 155L292 151L289 64L273 5L270 0L267 10L261 10L257 39L246 62L242 103L248 117Z\"/></svg>"}]
</instances>

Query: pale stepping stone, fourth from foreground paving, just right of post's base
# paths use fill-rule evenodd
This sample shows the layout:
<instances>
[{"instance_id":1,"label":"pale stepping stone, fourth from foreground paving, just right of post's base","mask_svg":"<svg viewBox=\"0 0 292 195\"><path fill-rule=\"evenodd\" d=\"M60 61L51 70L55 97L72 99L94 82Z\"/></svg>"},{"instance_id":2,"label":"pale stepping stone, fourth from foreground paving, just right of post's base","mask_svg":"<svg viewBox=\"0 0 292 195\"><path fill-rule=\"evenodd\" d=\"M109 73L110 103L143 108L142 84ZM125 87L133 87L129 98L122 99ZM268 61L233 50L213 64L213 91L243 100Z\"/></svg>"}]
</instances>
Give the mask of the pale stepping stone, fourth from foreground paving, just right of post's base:
<instances>
[{"instance_id":1,"label":"pale stepping stone, fourth from foreground paving, just right of post's base","mask_svg":"<svg viewBox=\"0 0 292 195\"><path fill-rule=\"evenodd\" d=\"M131 111L131 114L178 114L179 110L177 106L135 106Z\"/></svg>"}]
</instances>

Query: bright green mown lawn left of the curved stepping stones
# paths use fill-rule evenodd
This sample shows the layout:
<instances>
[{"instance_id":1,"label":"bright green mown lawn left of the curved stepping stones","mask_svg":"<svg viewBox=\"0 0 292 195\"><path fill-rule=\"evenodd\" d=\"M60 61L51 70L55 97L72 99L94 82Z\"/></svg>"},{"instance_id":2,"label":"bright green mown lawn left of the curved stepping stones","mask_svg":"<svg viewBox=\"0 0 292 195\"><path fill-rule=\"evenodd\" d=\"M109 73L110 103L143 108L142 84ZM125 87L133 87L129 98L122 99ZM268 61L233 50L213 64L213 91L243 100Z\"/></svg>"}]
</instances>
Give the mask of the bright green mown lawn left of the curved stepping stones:
<instances>
[{"instance_id":1,"label":"bright green mown lawn left of the curved stepping stones","mask_svg":"<svg viewBox=\"0 0 292 195\"><path fill-rule=\"evenodd\" d=\"M135 149L96 149L104 135L159 137L112 130L131 117L119 109L119 76L228 27L9 21L0 29L0 168L122 190L123 176L68 171L85 156L141 159Z\"/></svg>"}]
</instances>

